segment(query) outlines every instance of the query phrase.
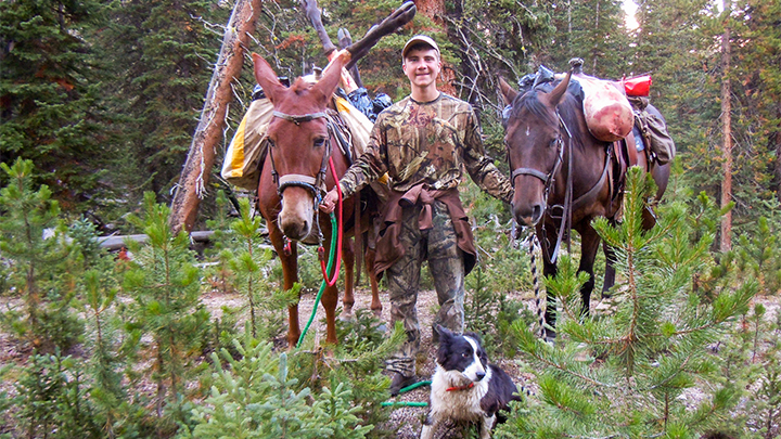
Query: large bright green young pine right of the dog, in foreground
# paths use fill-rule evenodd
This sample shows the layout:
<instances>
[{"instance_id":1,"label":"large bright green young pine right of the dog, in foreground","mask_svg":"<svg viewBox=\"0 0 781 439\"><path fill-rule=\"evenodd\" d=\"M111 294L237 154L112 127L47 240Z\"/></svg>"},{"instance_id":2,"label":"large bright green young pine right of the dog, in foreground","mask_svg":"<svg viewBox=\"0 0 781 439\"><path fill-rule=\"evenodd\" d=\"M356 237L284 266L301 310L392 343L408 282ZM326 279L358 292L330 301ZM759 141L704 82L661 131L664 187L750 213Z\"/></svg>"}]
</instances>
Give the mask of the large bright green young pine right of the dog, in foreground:
<instances>
[{"instance_id":1,"label":"large bright green young pine right of the dog, in foreground","mask_svg":"<svg viewBox=\"0 0 781 439\"><path fill-rule=\"evenodd\" d=\"M712 232L687 221L687 207L664 209L660 223L643 232L644 199L653 193L639 169L629 175L624 221L594 227L616 248L624 283L609 314L580 317L579 287L572 260L546 280L559 300L555 347L513 327L520 349L537 374L539 392L528 410L514 415L502 431L511 437L696 437L729 415L737 403L729 387L716 385L718 372L706 346L718 340L728 323L746 310L756 283L746 281L708 298L692 279L714 263ZM696 409L681 398L696 383L713 392Z\"/></svg>"}]
</instances>

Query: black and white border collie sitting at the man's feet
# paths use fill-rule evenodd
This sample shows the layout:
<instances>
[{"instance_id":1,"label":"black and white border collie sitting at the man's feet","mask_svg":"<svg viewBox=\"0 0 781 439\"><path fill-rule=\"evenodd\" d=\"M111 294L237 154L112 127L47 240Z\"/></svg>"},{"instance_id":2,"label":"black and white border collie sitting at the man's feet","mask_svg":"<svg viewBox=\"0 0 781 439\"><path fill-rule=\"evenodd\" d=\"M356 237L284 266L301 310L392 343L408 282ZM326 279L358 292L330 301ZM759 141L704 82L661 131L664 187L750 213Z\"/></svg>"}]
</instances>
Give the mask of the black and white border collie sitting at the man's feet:
<instances>
[{"instance_id":1,"label":"black and white border collie sitting at the man's feet","mask_svg":"<svg viewBox=\"0 0 781 439\"><path fill-rule=\"evenodd\" d=\"M508 410L508 402L521 400L517 387L504 371L488 364L476 334L457 335L440 325L434 331L439 335L439 349L421 439L433 438L447 418L475 422L481 426L481 439L490 438L497 412Z\"/></svg>"}]
</instances>

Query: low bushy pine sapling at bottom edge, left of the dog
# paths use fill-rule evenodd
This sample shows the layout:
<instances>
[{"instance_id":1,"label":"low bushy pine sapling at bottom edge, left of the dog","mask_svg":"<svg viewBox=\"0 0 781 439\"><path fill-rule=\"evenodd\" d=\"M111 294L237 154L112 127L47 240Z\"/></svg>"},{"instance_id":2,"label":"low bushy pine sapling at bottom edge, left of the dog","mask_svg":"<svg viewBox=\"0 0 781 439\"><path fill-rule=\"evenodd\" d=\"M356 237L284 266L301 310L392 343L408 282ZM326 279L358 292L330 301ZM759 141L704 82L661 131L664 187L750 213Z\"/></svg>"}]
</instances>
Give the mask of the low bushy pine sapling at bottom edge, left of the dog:
<instances>
[{"instance_id":1,"label":"low bushy pine sapling at bottom edge, left of the dog","mask_svg":"<svg viewBox=\"0 0 781 439\"><path fill-rule=\"evenodd\" d=\"M289 353L274 353L248 327L233 349L238 359L227 349L212 354L210 395L193 410L196 424L183 427L179 438L359 439L372 429L357 416L362 408L354 403L350 384L320 390L304 385L291 377Z\"/></svg>"}]
</instances>

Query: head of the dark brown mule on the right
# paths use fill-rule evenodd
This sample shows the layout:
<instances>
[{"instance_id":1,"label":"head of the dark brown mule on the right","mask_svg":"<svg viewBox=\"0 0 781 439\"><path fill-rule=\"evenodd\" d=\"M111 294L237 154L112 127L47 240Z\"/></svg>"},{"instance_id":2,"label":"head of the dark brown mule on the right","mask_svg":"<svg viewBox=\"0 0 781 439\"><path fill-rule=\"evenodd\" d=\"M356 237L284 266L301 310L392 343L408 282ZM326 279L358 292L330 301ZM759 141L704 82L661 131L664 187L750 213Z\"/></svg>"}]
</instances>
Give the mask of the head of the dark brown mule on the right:
<instances>
[{"instance_id":1,"label":"head of the dark brown mule on the right","mask_svg":"<svg viewBox=\"0 0 781 439\"><path fill-rule=\"evenodd\" d=\"M569 85L569 74L550 92L532 89L520 94L499 79L504 102L512 107L504 127L504 144L515 189L513 215L522 225L535 225L547 206L547 186L560 169L562 133L556 106Z\"/></svg>"}]
</instances>

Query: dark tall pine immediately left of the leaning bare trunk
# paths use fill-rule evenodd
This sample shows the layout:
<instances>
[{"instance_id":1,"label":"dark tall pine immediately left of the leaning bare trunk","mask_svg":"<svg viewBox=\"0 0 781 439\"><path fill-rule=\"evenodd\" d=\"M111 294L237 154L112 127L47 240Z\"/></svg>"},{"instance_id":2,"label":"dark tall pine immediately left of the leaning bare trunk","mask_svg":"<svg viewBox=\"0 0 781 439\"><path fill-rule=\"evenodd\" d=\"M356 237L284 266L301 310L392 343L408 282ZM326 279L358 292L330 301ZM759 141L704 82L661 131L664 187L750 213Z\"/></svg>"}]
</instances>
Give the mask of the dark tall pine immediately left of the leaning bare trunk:
<instances>
[{"instance_id":1,"label":"dark tall pine immediately left of the leaning bare trunk","mask_svg":"<svg viewBox=\"0 0 781 439\"><path fill-rule=\"evenodd\" d=\"M197 125L229 10L202 0L113 4L97 43L116 80L105 90L124 119L113 167L135 202L151 190L168 199ZM110 50L111 49L111 50Z\"/></svg>"}]
</instances>

